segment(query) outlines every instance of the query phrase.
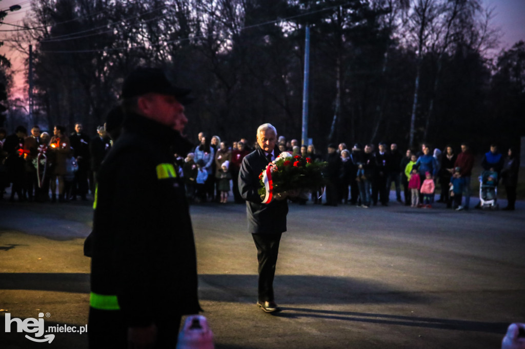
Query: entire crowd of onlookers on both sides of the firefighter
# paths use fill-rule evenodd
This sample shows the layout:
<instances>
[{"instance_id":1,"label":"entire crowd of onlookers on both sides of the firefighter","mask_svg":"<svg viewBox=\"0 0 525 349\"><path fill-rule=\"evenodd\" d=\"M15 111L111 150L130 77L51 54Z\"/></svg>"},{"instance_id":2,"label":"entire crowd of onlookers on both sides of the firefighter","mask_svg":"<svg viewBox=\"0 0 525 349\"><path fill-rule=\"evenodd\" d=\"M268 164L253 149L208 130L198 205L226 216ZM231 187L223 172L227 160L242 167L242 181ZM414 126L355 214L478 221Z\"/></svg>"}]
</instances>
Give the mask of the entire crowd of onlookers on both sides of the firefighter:
<instances>
[{"instance_id":1,"label":"entire crowd of onlookers on both sides of the firefighter","mask_svg":"<svg viewBox=\"0 0 525 349\"><path fill-rule=\"evenodd\" d=\"M118 134L113 137L118 137ZM219 136L197 136L197 146L188 154L175 154L175 164L184 177L186 195L190 202L227 203L229 193L233 202L245 203L238 190L237 178L243 158L257 146L246 138L233 143ZM30 135L23 126L7 136L0 129L0 188L12 183L9 200L66 202L88 200L87 194L95 192L95 182L100 164L111 148L112 139L105 126L97 128L97 136L89 137L82 132L82 124L75 124L75 132L66 135L64 127L56 125L53 136L40 133L34 126ZM474 155L467 143L456 154L452 145L443 151L431 149L426 143L421 150L407 149L404 154L395 143L361 145L351 149L344 143L330 144L326 154L313 145L300 146L297 139L286 140L280 136L279 152L308 157L313 161L326 161L324 175L327 178L324 205L358 205L369 208L380 203L388 205L390 190L395 190L396 200L418 208L431 208L435 191L440 190L436 202L447 208L468 210L471 197ZM513 148L505 155L493 144L484 154L481 166L496 172L496 185L505 186L508 205L513 210L516 202L519 157ZM58 189L58 195L57 195ZM50 194L49 194L50 193ZM231 201L231 200L230 200ZM306 200L298 200L300 204ZM322 188L311 195L314 204L322 203Z\"/></svg>"}]
</instances>

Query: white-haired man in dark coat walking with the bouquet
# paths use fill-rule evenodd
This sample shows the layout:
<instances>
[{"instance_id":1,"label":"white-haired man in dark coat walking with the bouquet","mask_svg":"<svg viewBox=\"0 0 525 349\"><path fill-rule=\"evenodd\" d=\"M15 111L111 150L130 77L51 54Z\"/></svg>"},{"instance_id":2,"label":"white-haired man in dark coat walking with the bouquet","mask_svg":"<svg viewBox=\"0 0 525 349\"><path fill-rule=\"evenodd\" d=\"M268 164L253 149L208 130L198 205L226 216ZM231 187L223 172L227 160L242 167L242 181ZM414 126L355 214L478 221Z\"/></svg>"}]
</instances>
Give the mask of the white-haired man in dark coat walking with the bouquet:
<instances>
[{"instance_id":1,"label":"white-haired man in dark coat walking with the bouquet","mask_svg":"<svg viewBox=\"0 0 525 349\"><path fill-rule=\"evenodd\" d=\"M257 305L267 313L279 311L274 299L274 276L279 253L281 234L286 232L288 203L286 198L295 193L274 195L274 199L264 204L258 194L259 174L266 169L268 162L275 160L277 130L271 124L257 128L259 147L248 154L241 163L239 172L239 192L246 200L248 232L257 247L259 263L259 283Z\"/></svg>"}]
</instances>

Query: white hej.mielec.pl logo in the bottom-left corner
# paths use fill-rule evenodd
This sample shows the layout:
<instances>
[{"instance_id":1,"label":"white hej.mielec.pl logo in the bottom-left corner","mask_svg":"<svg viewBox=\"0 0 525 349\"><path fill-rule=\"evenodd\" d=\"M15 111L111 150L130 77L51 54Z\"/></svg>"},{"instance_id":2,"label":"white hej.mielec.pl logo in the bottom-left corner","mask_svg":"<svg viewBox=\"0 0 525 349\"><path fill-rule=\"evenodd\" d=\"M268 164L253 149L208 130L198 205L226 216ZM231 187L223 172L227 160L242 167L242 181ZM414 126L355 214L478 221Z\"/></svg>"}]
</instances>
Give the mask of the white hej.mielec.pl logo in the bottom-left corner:
<instances>
[{"instance_id":1,"label":"white hej.mielec.pl logo in the bottom-left corner","mask_svg":"<svg viewBox=\"0 0 525 349\"><path fill-rule=\"evenodd\" d=\"M46 314L47 317L50 316L50 314ZM16 332L26 332L26 333L34 333L35 337L31 337L29 335L25 335L25 337L28 340L31 340L33 342L53 342L55 339L55 335L53 332L74 332L74 333L85 333L88 330L88 325L85 326L68 326L68 325L56 325L56 326L48 326L47 330L45 329L44 325L44 313L38 313L38 319L34 318L27 318L25 320L18 319L18 318L11 318L10 313L5 314L5 332L11 332L12 324L14 323L16 325ZM45 332L51 332L50 334L44 335ZM40 338L44 335L43 338Z\"/></svg>"}]
</instances>

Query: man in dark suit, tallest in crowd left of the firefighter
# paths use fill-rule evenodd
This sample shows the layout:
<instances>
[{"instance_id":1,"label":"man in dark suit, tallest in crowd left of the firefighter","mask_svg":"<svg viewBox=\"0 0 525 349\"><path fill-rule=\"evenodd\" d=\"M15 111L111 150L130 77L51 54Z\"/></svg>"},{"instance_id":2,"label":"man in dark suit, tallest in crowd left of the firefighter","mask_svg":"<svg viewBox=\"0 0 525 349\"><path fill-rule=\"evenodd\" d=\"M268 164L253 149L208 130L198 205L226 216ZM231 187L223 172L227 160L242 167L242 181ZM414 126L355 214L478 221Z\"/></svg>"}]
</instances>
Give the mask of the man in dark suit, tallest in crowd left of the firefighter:
<instances>
[{"instance_id":1,"label":"man in dark suit, tallest in crowd left of the firefighter","mask_svg":"<svg viewBox=\"0 0 525 349\"><path fill-rule=\"evenodd\" d=\"M88 174L90 170L90 154L89 154L89 137L82 133L82 124L75 124L75 132L69 136L69 144L73 148L73 156L77 159L78 170L75 172L75 179L73 180L73 188L71 193L71 200L77 200L77 195L80 195L82 200L87 200L88 193Z\"/></svg>"}]
</instances>

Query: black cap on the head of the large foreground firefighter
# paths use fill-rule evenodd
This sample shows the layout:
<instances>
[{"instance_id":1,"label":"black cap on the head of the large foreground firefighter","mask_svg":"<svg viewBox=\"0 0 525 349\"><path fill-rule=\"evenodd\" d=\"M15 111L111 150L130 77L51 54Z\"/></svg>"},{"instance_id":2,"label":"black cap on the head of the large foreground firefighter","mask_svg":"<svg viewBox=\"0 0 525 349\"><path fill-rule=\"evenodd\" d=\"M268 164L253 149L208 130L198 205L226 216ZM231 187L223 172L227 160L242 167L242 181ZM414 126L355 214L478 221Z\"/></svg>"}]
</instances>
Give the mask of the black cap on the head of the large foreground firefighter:
<instances>
[{"instance_id":1,"label":"black cap on the head of the large foreground firefighter","mask_svg":"<svg viewBox=\"0 0 525 349\"><path fill-rule=\"evenodd\" d=\"M141 96L146 93L160 93L175 96L182 104L192 101L188 94L191 90L181 89L167 79L163 69L139 67L132 71L122 85L123 99Z\"/></svg>"}]
</instances>

